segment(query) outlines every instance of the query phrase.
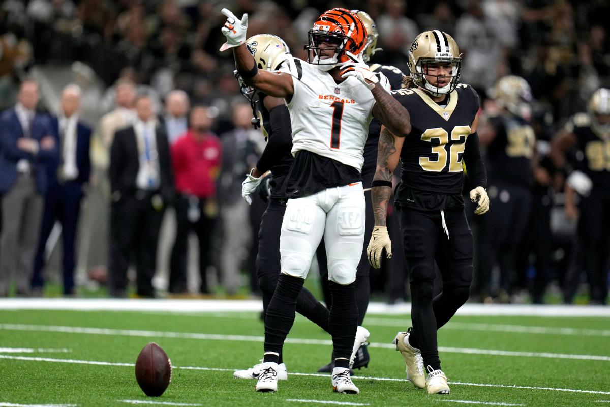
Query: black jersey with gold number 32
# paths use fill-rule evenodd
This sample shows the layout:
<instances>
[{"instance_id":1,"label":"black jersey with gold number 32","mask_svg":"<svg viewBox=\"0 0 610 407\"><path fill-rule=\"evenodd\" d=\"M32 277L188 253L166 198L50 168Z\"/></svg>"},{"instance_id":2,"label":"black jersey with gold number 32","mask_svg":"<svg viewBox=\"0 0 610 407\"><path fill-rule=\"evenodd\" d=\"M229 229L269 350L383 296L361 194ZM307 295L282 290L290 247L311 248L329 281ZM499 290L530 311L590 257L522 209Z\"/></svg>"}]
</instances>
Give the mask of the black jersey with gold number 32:
<instances>
[{"instance_id":1,"label":"black jersey with gold number 32","mask_svg":"<svg viewBox=\"0 0 610 407\"><path fill-rule=\"evenodd\" d=\"M400 154L401 183L395 192L396 203L430 210L463 205L462 156L479 110L476 91L459 84L443 101L445 107L420 88L392 93L409 110L412 126Z\"/></svg>"}]
</instances>

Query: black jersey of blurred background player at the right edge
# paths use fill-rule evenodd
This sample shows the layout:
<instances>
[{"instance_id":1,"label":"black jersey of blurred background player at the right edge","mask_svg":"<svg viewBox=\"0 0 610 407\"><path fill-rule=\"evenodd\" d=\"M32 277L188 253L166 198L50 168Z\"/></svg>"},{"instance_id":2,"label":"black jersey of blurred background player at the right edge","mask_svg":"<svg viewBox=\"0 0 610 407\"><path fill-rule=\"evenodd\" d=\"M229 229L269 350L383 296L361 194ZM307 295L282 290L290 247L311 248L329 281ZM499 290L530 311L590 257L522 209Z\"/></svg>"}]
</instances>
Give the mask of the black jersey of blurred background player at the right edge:
<instances>
[{"instance_id":1,"label":"black jersey of blurred background player at the right edge","mask_svg":"<svg viewBox=\"0 0 610 407\"><path fill-rule=\"evenodd\" d=\"M610 134L595 132L587 113L574 115L565 129L578 140L575 169L589 176L595 190L610 194Z\"/></svg>"}]
</instances>

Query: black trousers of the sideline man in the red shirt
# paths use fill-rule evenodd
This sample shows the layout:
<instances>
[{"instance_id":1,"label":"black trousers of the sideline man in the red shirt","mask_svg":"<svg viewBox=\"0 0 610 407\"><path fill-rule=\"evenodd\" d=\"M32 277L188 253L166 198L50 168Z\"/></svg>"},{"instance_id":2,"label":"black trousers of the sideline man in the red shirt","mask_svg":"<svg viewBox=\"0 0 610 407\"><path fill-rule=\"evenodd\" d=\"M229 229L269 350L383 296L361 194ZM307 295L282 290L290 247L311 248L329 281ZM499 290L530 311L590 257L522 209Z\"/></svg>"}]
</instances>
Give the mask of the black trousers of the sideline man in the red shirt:
<instances>
[{"instance_id":1,"label":"black trousers of the sideline man in the red shirt","mask_svg":"<svg viewBox=\"0 0 610 407\"><path fill-rule=\"evenodd\" d=\"M176 240L171 250L169 292L187 290L188 233L195 232L199 240L199 274L203 293L207 286L207 266L210 264L210 245L216 219L206 214L206 200L196 196L178 195L176 198ZM190 213L189 213L190 212Z\"/></svg>"}]
</instances>

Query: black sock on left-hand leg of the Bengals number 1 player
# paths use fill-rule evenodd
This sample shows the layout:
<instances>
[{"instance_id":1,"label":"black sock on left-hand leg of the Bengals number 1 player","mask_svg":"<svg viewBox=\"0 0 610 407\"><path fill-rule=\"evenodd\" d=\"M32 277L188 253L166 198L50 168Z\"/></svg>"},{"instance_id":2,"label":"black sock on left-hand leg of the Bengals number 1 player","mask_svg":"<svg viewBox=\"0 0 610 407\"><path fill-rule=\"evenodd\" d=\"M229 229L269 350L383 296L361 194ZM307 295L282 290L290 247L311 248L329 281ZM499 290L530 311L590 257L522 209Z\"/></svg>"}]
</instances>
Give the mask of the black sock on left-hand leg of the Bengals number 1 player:
<instances>
[{"instance_id":1,"label":"black sock on left-hand leg of the Bengals number 1 player","mask_svg":"<svg viewBox=\"0 0 610 407\"><path fill-rule=\"evenodd\" d=\"M285 274L279 276L265 318L265 352L282 352L284 340L295 322L296 297L304 282L304 279L298 277Z\"/></svg>"}]
</instances>

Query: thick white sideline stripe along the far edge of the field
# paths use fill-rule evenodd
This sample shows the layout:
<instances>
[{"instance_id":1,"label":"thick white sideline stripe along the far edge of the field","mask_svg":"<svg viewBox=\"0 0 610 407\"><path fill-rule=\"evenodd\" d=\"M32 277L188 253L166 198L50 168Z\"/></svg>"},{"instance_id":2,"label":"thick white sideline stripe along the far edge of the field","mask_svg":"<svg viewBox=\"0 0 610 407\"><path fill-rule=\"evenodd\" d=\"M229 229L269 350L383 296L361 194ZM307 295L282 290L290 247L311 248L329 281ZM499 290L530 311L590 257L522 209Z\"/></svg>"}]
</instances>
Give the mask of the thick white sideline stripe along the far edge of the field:
<instances>
[{"instance_id":1,"label":"thick white sideline stripe along the far edge of the field","mask_svg":"<svg viewBox=\"0 0 610 407\"><path fill-rule=\"evenodd\" d=\"M260 300L181 300L117 298L3 298L0 309L64 309L71 311L174 311L174 312L260 312ZM368 315L411 314L411 303L370 303ZM464 304L457 315L514 315L528 317L604 317L608 306Z\"/></svg>"}]
</instances>

